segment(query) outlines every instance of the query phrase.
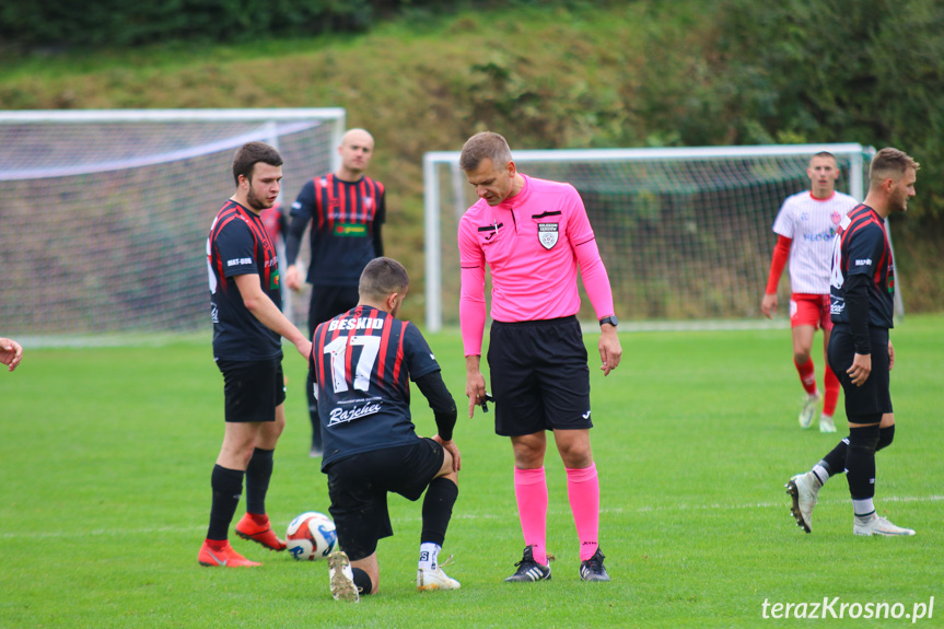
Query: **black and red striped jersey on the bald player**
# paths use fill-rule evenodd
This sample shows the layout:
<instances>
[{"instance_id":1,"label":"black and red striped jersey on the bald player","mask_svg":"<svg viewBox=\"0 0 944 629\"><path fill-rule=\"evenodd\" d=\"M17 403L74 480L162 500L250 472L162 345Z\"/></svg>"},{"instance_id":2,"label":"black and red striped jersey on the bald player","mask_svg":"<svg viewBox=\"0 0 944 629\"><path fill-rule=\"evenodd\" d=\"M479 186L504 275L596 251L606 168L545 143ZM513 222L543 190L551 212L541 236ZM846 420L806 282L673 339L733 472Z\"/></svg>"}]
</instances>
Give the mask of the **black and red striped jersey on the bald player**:
<instances>
[{"instance_id":1,"label":"black and red striped jersey on the bald player","mask_svg":"<svg viewBox=\"0 0 944 629\"><path fill-rule=\"evenodd\" d=\"M346 182L333 173L302 186L291 209L298 238L311 222L312 259L307 281L314 286L358 286L369 261L383 255L380 225L386 221L384 185L371 177ZM294 264L296 251L287 253Z\"/></svg>"}]
</instances>

